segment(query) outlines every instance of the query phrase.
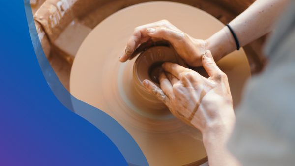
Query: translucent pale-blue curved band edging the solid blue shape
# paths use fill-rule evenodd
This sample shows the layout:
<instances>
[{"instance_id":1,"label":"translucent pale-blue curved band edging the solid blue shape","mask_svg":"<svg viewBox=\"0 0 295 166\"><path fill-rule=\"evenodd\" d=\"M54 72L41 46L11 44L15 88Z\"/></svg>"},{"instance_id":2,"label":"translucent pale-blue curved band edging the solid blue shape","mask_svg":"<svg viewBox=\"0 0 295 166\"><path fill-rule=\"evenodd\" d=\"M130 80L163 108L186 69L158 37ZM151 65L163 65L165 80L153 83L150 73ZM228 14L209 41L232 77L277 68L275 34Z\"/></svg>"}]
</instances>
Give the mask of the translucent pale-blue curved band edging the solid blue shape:
<instances>
[{"instance_id":1,"label":"translucent pale-blue curved band edging the solid blue shape","mask_svg":"<svg viewBox=\"0 0 295 166\"><path fill-rule=\"evenodd\" d=\"M148 166L148 161L131 135L112 117L103 111L76 99L61 84L50 66L38 38L29 0L25 0L25 12L33 48L42 73L57 99L69 110L83 117L118 147L129 166ZM75 110L73 109L75 105Z\"/></svg>"}]
</instances>

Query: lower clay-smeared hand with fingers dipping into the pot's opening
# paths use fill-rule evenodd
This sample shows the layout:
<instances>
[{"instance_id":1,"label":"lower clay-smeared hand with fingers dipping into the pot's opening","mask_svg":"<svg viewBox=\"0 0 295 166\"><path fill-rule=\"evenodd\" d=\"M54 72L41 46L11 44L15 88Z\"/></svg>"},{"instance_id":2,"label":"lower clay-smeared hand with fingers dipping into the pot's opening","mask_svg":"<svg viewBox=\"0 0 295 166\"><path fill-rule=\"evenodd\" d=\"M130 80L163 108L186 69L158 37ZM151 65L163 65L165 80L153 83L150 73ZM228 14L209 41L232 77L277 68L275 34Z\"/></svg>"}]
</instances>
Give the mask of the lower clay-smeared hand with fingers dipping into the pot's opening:
<instances>
[{"instance_id":1,"label":"lower clay-smeared hand with fingers dipping into the pot's opening","mask_svg":"<svg viewBox=\"0 0 295 166\"><path fill-rule=\"evenodd\" d=\"M198 128L204 138L211 133L229 135L235 114L227 76L218 68L210 51L205 51L202 63L209 78L166 62L162 65L165 73L159 76L161 88L149 80L143 84L173 115Z\"/></svg>"}]
</instances>

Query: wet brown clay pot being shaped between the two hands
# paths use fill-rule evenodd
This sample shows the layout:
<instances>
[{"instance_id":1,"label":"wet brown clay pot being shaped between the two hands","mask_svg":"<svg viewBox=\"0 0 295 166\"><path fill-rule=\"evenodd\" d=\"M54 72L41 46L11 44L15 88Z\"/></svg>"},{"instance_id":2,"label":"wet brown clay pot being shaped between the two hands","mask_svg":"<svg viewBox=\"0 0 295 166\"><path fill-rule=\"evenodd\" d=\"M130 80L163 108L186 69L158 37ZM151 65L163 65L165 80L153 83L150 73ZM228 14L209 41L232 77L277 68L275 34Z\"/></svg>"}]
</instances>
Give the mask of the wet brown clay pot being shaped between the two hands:
<instances>
[{"instance_id":1,"label":"wet brown clay pot being shaped between the two hands","mask_svg":"<svg viewBox=\"0 0 295 166\"><path fill-rule=\"evenodd\" d=\"M154 107L153 110L156 111L152 112L156 114L160 113L157 108L164 108L165 105L153 94L150 94L143 86L142 82L148 79L160 87L158 76L160 72L163 71L161 65L164 62L183 64L183 61L172 47L155 46L142 52L133 65L133 83L138 94L131 95L137 96L138 100L146 102L150 108ZM170 115L168 110L165 109L165 112Z\"/></svg>"}]
</instances>

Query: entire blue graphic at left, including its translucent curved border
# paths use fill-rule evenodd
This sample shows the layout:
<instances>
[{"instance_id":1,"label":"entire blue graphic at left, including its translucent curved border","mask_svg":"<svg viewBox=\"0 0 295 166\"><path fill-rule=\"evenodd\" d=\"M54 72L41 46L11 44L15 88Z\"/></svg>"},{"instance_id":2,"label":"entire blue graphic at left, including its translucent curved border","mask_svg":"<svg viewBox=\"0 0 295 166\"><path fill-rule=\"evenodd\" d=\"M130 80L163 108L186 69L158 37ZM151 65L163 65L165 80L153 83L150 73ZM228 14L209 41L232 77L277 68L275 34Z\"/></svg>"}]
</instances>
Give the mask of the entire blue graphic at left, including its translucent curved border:
<instances>
[{"instance_id":1,"label":"entire blue graphic at left, including its translucent curved border","mask_svg":"<svg viewBox=\"0 0 295 166\"><path fill-rule=\"evenodd\" d=\"M2 1L0 22L0 166L148 166L118 122L62 86L29 0Z\"/></svg>"}]
</instances>

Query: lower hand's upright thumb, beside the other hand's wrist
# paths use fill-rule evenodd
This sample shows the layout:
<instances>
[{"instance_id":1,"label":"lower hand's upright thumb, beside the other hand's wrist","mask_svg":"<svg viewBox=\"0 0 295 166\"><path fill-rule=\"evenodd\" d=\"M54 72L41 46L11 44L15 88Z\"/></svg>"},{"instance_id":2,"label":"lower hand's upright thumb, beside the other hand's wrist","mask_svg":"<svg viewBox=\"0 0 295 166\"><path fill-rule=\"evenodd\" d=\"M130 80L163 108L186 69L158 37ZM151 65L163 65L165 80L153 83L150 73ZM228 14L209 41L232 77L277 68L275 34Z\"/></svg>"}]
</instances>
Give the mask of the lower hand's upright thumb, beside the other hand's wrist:
<instances>
[{"instance_id":1,"label":"lower hand's upright thumb, beside the other hand's wrist","mask_svg":"<svg viewBox=\"0 0 295 166\"><path fill-rule=\"evenodd\" d=\"M212 54L209 50L205 51L202 55L202 64L210 77L221 72L219 67L216 65L212 57Z\"/></svg>"}]
</instances>

